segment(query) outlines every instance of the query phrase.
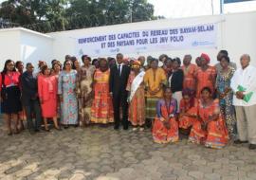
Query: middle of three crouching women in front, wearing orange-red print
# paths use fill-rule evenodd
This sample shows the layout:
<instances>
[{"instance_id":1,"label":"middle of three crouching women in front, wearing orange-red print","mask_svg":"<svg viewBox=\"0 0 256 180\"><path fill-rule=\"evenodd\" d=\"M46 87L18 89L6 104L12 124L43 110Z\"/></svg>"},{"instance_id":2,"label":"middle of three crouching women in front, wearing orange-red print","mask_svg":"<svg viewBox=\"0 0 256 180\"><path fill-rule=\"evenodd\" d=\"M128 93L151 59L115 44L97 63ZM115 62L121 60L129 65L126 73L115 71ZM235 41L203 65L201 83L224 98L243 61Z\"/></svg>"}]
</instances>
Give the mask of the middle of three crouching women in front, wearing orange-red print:
<instances>
[{"instance_id":1,"label":"middle of three crouching women in front, wearing orange-red print","mask_svg":"<svg viewBox=\"0 0 256 180\"><path fill-rule=\"evenodd\" d=\"M197 118L198 100L194 98L195 92L191 89L182 91L182 99L179 106L179 128L185 135L190 135L193 123Z\"/></svg>"}]
</instances>

